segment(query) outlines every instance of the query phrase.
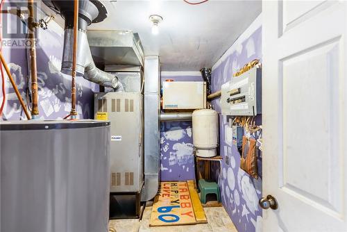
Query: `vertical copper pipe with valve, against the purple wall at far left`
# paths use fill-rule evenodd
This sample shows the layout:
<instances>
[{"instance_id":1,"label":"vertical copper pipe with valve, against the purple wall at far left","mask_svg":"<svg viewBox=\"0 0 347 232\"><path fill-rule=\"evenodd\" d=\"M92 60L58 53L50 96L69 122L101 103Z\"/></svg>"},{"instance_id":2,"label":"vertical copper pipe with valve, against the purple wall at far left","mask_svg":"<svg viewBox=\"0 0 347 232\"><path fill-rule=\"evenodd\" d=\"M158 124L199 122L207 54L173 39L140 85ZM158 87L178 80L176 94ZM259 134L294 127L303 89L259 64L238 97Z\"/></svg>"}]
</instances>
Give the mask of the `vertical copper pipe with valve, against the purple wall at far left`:
<instances>
[{"instance_id":1,"label":"vertical copper pipe with valve, against the purple wall at far left","mask_svg":"<svg viewBox=\"0 0 347 232\"><path fill-rule=\"evenodd\" d=\"M38 90L37 90L37 67L36 67L36 48L35 48L35 22L34 22L34 0L28 0L28 27L29 27L29 42L30 42L30 65L31 65L31 93L33 103L31 107L31 115L33 118L39 115L38 108Z\"/></svg>"}]
</instances>

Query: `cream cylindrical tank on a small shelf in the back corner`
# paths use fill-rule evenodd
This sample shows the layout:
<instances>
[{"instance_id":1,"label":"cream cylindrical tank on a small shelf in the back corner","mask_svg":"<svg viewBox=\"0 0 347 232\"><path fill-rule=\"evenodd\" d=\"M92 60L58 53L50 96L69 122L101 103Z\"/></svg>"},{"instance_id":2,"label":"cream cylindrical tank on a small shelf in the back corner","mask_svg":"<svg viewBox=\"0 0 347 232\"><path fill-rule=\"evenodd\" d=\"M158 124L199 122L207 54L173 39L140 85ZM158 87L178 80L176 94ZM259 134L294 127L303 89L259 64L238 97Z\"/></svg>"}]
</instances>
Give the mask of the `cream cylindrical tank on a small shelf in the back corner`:
<instances>
[{"instance_id":1,"label":"cream cylindrical tank on a small shelf in the back corner","mask_svg":"<svg viewBox=\"0 0 347 232\"><path fill-rule=\"evenodd\" d=\"M196 156L217 156L218 114L215 110L203 109L193 112L193 143Z\"/></svg>"}]
</instances>

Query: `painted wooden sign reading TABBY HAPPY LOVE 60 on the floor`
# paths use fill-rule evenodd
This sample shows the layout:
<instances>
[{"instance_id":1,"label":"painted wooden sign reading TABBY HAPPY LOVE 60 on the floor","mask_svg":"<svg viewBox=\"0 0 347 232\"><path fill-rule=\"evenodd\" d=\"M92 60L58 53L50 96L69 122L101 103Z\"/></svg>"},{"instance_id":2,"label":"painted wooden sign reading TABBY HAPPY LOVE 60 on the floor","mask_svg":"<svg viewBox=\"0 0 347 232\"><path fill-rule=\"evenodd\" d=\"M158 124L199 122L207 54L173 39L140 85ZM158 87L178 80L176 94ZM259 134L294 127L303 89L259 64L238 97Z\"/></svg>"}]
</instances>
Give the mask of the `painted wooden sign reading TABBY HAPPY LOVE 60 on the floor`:
<instances>
[{"instance_id":1,"label":"painted wooden sign reading TABBY HAPPY LOVE 60 on the floor","mask_svg":"<svg viewBox=\"0 0 347 232\"><path fill-rule=\"evenodd\" d=\"M186 181L161 182L155 197L149 226L174 226L206 223L196 220L189 185ZM196 204L196 201L194 201ZM200 201L198 204L201 206ZM199 208L199 207L196 207ZM202 207L201 207L202 208Z\"/></svg>"}]
</instances>

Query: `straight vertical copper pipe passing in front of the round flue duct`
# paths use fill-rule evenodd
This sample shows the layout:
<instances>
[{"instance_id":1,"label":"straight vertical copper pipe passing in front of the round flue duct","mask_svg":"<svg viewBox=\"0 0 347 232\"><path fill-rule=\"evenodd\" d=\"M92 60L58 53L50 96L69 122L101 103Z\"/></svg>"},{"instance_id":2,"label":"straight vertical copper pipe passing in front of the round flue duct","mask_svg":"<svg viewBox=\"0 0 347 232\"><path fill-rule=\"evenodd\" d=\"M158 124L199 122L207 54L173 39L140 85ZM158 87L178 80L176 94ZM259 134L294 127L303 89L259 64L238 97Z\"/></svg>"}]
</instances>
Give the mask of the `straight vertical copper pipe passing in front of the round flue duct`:
<instances>
[{"instance_id":1,"label":"straight vertical copper pipe passing in front of the round flue duct","mask_svg":"<svg viewBox=\"0 0 347 232\"><path fill-rule=\"evenodd\" d=\"M78 0L74 0L74 50L72 56L72 73L71 73L71 119L77 115L76 111L76 54L77 54L77 33L78 33Z\"/></svg>"}]
</instances>

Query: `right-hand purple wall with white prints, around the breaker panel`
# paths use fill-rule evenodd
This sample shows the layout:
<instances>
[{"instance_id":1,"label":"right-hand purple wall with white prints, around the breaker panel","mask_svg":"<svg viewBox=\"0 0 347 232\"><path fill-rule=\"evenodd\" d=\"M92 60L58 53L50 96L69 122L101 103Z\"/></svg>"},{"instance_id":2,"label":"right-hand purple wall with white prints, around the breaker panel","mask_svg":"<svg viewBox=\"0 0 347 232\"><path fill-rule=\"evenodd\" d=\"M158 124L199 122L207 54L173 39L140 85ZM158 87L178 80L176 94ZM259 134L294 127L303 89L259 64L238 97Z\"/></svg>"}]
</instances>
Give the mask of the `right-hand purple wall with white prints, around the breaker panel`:
<instances>
[{"instance_id":1,"label":"right-hand purple wall with white prints, around the breaker panel","mask_svg":"<svg viewBox=\"0 0 347 232\"><path fill-rule=\"evenodd\" d=\"M255 29L251 31L251 35L243 41L235 42L230 49L230 55L222 58L221 62L217 63L219 65L215 65L212 70L212 92L221 90L221 85L230 81L232 74L244 64L256 58L261 60L262 28L261 26L252 28ZM235 145L230 145L230 142L226 141L225 136L229 117L221 115L220 99L212 101L212 106L219 113L219 151L223 160L226 160L226 156L230 160L229 164L222 162L221 167L216 167L215 170L221 188L223 206L239 232L260 231L262 210L258 206L258 200L262 196L262 159L258 158L259 179L253 179L239 168L239 151ZM257 116L256 121L261 124L261 115Z\"/></svg>"}]
</instances>

